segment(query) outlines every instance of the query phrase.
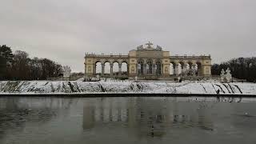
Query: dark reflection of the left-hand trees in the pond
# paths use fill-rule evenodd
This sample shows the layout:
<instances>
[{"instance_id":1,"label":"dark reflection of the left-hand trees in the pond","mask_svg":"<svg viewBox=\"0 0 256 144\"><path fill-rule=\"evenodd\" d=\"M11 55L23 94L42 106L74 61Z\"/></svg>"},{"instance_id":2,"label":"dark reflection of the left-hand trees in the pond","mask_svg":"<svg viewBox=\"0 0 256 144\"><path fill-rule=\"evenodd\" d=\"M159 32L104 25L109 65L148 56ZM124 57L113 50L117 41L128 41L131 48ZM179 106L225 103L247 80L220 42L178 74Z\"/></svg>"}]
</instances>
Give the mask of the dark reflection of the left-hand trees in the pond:
<instances>
[{"instance_id":1,"label":"dark reflection of the left-hand trees in the pond","mask_svg":"<svg viewBox=\"0 0 256 144\"><path fill-rule=\"evenodd\" d=\"M62 98L0 98L0 140L7 130L24 130L26 122L42 125L62 111L67 113L72 102Z\"/></svg>"}]
</instances>

